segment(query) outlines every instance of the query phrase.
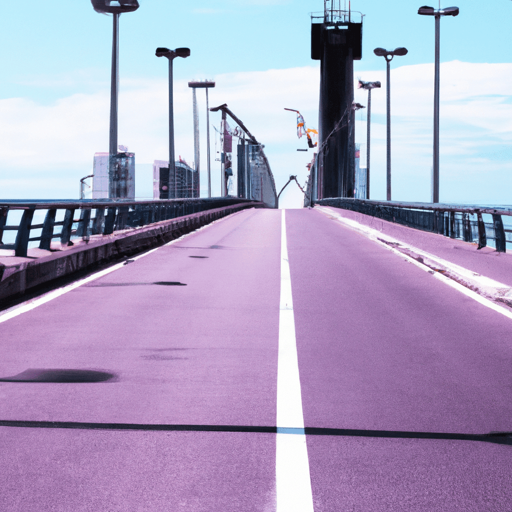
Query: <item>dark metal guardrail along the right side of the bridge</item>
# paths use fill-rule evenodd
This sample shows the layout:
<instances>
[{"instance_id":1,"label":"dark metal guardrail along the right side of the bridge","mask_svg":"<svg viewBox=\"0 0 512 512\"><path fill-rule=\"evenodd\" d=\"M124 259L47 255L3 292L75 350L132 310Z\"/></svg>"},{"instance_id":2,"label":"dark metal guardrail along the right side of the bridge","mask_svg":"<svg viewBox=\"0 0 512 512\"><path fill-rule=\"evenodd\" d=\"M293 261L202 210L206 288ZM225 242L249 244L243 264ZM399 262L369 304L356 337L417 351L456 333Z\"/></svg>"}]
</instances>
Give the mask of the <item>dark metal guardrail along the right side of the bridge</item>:
<instances>
[{"instance_id":1,"label":"dark metal guardrail along the right side of the bridge","mask_svg":"<svg viewBox=\"0 0 512 512\"><path fill-rule=\"evenodd\" d=\"M479 249L487 245L487 240L493 240L499 252L505 252L507 244L509 249L512 249L510 206L400 203L351 198L327 198L315 201L315 204L357 211L415 229L462 239L465 242L478 241ZM492 222L484 222L483 215L492 216ZM505 225L502 216L508 220Z\"/></svg>"}]
</instances>

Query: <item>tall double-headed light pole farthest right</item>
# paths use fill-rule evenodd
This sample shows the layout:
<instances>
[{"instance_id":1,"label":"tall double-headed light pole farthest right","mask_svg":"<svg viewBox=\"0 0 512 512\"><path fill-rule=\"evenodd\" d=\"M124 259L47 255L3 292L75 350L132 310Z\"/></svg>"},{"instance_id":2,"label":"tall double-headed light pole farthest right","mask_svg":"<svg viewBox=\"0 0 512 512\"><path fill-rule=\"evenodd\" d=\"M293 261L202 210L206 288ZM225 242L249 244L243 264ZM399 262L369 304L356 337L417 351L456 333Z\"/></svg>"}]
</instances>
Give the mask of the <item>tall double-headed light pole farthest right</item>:
<instances>
[{"instance_id":1,"label":"tall double-headed light pole farthest right","mask_svg":"<svg viewBox=\"0 0 512 512\"><path fill-rule=\"evenodd\" d=\"M432 202L439 202L439 20L441 16L457 16L458 7L446 7L441 9L423 6L418 9L418 14L434 16L436 27L436 50L434 65L434 162L432 165Z\"/></svg>"}]
</instances>

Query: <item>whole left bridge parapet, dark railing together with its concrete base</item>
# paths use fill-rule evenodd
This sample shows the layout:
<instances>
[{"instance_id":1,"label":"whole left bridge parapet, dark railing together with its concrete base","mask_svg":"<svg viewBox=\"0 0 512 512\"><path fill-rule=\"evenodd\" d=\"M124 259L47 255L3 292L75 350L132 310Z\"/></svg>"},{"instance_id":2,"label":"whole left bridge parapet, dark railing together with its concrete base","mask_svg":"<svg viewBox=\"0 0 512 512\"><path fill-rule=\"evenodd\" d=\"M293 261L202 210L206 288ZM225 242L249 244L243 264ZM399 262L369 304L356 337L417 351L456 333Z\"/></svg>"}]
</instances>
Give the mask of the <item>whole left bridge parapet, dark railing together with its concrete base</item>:
<instances>
[{"instance_id":1,"label":"whole left bridge parapet, dark railing together with its concrete base","mask_svg":"<svg viewBox=\"0 0 512 512\"><path fill-rule=\"evenodd\" d=\"M188 202L191 202L191 200L188 200ZM16 240L19 241L23 237L24 241L38 240L41 245L43 242L49 243L52 237L63 237L61 240L69 240L70 233L74 233L75 238L74 243L70 246L66 244L62 247L57 244L52 252L29 249L30 258L13 257L12 253L14 251L12 249L9 251L10 256L0 258L0 309L2 309L4 301L7 301L7 304L13 297L16 300L16 297L23 295L26 290L37 290L37 287L51 286L49 285L51 282L60 286L59 283L61 283L62 278L72 278L72 275L76 275L76 272L89 271L97 268L100 264L111 263L113 260L119 260L120 258L129 258L152 247L170 242L185 233L194 231L205 224L242 209L264 207L263 203L238 198L214 198L204 202L196 199L194 205L182 204L186 202L175 202L173 200L139 202L139 204L118 201L116 203L110 202L106 206L103 204L103 208L108 208L106 215L104 215L104 209L103 214L101 214L101 207L98 206L98 203L94 203L94 209L100 211L100 214L96 213L93 216L91 215L93 210L91 204L93 203L70 203L47 203L45 205L47 217L50 216L53 219L55 217L51 212L56 209L54 207L67 206L65 210L66 223L59 222L57 224L57 222L54 222L53 224L61 225L64 234L61 232L53 237L51 235L52 230L47 229L44 236L41 234L39 237L30 238L26 231L30 233L30 229L36 229L37 226L28 224L27 229L27 219L30 219L30 215L33 216L37 205L22 205L18 202L18 207L24 206L25 209L23 209L22 215L23 222L20 223L23 232L20 235L18 230ZM75 209L82 206L80 219L74 219L74 214L69 214L68 210L74 211L73 206L76 207ZM164 208L164 206L166 207ZM173 208L170 208L170 206ZM185 209L185 215L180 215L183 213L183 208ZM187 208L189 210L202 208L202 210L186 214ZM40 209L45 211L42 207ZM29 211L28 215L26 215L27 211ZM168 216L168 219L163 219L164 214ZM110 220L109 215L111 216ZM157 215L160 218L157 218ZM103 220L101 221L101 219ZM143 222L144 225L142 227L129 225L129 223L136 224L135 221ZM70 226L74 227L75 225L77 226L76 229L70 228ZM98 226L102 225L102 232L93 234L89 239L88 233L93 231L94 225L96 225L97 230L99 230ZM111 231L112 227L115 232ZM44 224L42 224L42 227L39 226L38 229L45 231ZM77 232L79 236L76 235ZM12 245L15 244L0 245L0 249ZM55 280L60 281L57 283Z\"/></svg>"}]
</instances>

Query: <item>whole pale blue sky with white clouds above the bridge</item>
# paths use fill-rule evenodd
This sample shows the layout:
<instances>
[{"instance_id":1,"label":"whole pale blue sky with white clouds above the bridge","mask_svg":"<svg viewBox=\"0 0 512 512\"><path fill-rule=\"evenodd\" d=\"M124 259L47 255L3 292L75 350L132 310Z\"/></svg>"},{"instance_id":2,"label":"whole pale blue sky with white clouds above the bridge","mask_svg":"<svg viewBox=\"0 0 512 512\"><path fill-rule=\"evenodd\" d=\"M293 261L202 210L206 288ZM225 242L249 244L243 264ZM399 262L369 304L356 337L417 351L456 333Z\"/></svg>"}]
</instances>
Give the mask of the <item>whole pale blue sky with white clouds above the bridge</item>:
<instances>
[{"instance_id":1,"label":"whole pale blue sky with white clouds above the bridge","mask_svg":"<svg viewBox=\"0 0 512 512\"><path fill-rule=\"evenodd\" d=\"M304 181L305 164L312 154L297 154L302 141L296 139L291 114L282 109L297 108L310 126L317 126L318 63L310 59L309 13L323 11L323 1L139 2L138 11L120 18L119 62L119 143L126 143L136 153L141 173L139 190L147 195L148 165L166 154L167 69L166 61L155 57L158 46L191 49L190 57L177 59L174 66L176 101L182 102L176 106L177 154L193 159L191 94L186 81L214 78L217 87L211 92L210 106L227 102L265 144L278 190L292 172ZM343 8L345 2L341 4ZM365 15L363 58L355 62L356 78L380 79L384 86L385 61L373 54L373 48L405 46L409 50L408 55L392 62L394 190L396 199L428 201L432 158L429 66L434 59L434 20L416 14L420 4L410 0L354 0L351 7ZM444 99L441 95L441 146L445 134L441 200L444 179L444 200L510 204L512 197L503 192L512 185L506 181L512 170L510 124L509 116L503 118L502 114L510 107L512 75L510 67L498 65L510 62L512 2L456 5L459 16L441 20L441 62L459 61L467 66L449 67L460 75L449 71L444 77L441 74L441 93L446 91ZM78 180L90 174L94 152L108 147L112 18L96 13L89 0L4 2L0 13L0 132L4 133L4 142L0 142L0 197L76 197ZM480 66L483 63L496 66L485 68ZM486 78L483 82L482 73ZM499 80L507 81L506 87L498 84ZM448 99L455 82L461 95ZM380 93L385 96L384 89ZM414 100L416 96L421 98L421 105ZM379 93L374 92L373 98L372 179L376 181L372 190L379 199L385 197L380 176L385 111L381 110ZM293 104L288 104L290 101ZM408 110L400 102L408 105ZM475 123L471 115L465 116L464 105L477 109L482 122ZM417 115L411 115L416 108ZM200 98L200 113L201 109L204 105ZM365 142L364 111L358 119L356 137ZM215 116L210 121L218 124ZM201 122L204 134L204 119ZM213 145L213 137L211 141ZM204 137L201 151L205 155ZM56 153L70 155L59 159ZM385 165L385 156L383 162ZM41 168L46 169L44 173ZM499 193L480 195L482 186L472 188L471 183L464 183L481 179L479 168L488 173L489 182L500 185L505 180L498 186ZM453 183L446 181L449 176L454 177ZM454 187L460 193L454 194ZM291 205L297 198L298 189L285 195L284 203L289 200Z\"/></svg>"}]
</instances>

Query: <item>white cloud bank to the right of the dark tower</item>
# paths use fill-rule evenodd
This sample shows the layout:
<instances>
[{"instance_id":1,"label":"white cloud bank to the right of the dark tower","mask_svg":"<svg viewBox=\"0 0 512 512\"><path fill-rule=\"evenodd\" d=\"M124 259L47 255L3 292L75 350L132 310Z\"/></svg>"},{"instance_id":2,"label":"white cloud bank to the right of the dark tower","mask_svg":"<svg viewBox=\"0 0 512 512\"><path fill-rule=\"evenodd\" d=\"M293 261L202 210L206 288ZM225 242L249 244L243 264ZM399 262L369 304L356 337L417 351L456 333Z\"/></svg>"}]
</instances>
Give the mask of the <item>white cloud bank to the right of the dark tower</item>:
<instances>
[{"instance_id":1,"label":"white cloud bank to the right of the dark tower","mask_svg":"<svg viewBox=\"0 0 512 512\"><path fill-rule=\"evenodd\" d=\"M445 62L440 68L440 200L467 203L512 203L509 155L512 104L507 84L512 65ZM386 197L386 73L361 73L380 80L372 91L372 198ZM367 93L355 90L356 101ZM391 71L393 199L430 201L434 65L403 66ZM375 115L375 117L373 117ZM366 116L365 116L366 117ZM366 142L366 123L356 126ZM500 162L477 157L503 155ZM418 183L414 185L413 182ZM489 185L492 184L492 185Z\"/></svg>"}]
</instances>

